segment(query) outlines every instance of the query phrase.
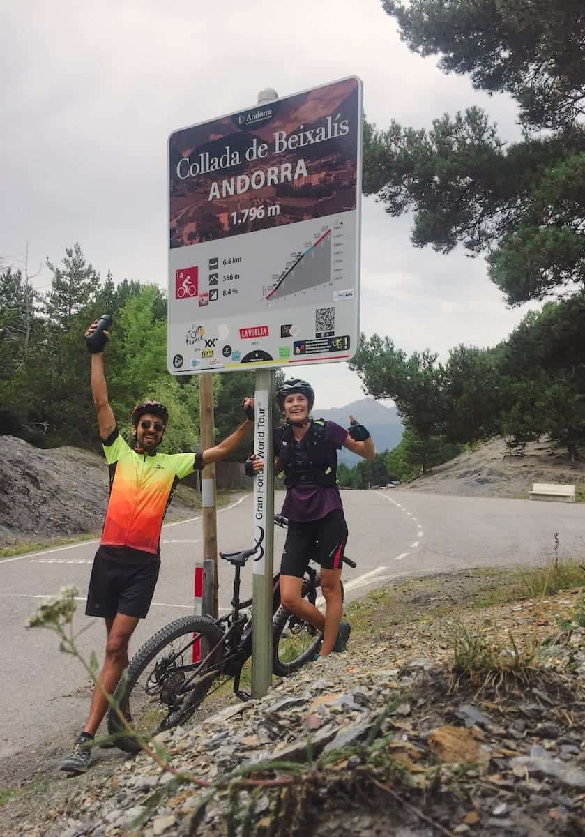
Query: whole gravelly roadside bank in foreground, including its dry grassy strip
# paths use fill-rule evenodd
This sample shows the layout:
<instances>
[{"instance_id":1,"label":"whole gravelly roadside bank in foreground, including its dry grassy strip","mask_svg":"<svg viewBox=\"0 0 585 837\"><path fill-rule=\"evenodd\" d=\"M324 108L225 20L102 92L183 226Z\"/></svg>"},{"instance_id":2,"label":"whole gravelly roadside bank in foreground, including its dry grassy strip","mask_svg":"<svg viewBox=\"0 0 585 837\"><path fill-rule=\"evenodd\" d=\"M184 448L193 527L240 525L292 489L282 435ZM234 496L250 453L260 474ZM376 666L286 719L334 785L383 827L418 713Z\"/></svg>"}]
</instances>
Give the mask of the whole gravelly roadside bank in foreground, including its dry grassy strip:
<instances>
[{"instance_id":1,"label":"whole gravelly roadside bank in foreground, including its dry grassy strip","mask_svg":"<svg viewBox=\"0 0 585 837\"><path fill-rule=\"evenodd\" d=\"M577 837L585 828L585 629L569 623L583 590L478 609L480 586L485 573L420 579L393 589L391 611L377 591L352 605L346 654L278 681L262 701L209 701L189 726L162 735L173 769L216 785L257 763L260 782L290 778L267 761L300 766L285 789L259 786L249 821L252 788L217 787L194 830L207 788L177 783L144 754L115 751L97 751L89 773L65 778L54 742L2 766L0 786L17 788L18 776L21 788L0 808L0 833ZM537 643L539 655L500 680L454 675L454 617L504 662L511 634L516 653Z\"/></svg>"}]
</instances>

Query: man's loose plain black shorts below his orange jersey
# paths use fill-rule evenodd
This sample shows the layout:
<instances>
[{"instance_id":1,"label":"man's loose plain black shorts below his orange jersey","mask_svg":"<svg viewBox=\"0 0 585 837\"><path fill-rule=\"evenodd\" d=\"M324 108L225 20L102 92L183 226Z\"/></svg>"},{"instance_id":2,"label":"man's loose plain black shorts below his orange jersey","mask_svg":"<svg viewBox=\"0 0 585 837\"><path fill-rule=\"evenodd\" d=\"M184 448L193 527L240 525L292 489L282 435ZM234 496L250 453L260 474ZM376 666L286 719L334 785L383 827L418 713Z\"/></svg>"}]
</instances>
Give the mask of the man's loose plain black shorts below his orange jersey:
<instances>
[{"instance_id":1,"label":"man's loose plain black shorts below his orange jersey","mask_svg":"<svg viewBox=\"0 0 585 837\"><path fill-rule=\"evenodd\" d=\"M121 550L112 555L100 547L95 553L85 606L87 616L114 619L115 614L125 614L144 619L148 613L161 562L156 556L152 561L136 560L128 552Z\"/></svg>"}]
</instances>

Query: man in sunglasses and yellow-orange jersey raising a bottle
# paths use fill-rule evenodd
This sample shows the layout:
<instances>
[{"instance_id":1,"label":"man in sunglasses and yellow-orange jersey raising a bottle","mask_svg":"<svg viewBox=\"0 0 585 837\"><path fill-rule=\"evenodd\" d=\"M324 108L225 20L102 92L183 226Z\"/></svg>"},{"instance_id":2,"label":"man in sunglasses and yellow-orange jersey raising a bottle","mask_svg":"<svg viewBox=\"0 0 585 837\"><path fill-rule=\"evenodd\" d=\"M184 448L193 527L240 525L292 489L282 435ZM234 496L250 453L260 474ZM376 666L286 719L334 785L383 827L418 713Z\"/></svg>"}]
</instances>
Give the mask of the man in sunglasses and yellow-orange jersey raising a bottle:
<instances>
[{"instance_id":1,"label":"man in sunglasses and yellow-orange jersey raising a bottle","mask_svg":"<svg viewBox=\"0 0 585 837\"><path fill-rule=\"evenodd\" d=\"M93 334L96 323L92 323L86 336ZM157 448L167 427L167 408L157 401L144 401L131 413L131 445L126 444L108 402L103 353L108 333L103 334L97 347L88 343L88 348L92 352L91 393L110 469L110 499L91 571L85 613L105 619L107 642L99 684L111 694L128 665L131 635L150 608L161 563L162 520L177 482L232 454L254 422L246 418L223 442L196 454L160 454ZM246 399L244 411L250 413L253 403ZM61 770L85 773L91 742L107 708L108 703L96 686L83 731L73 751L61 763Z\"/></svg>"}]
</instances>

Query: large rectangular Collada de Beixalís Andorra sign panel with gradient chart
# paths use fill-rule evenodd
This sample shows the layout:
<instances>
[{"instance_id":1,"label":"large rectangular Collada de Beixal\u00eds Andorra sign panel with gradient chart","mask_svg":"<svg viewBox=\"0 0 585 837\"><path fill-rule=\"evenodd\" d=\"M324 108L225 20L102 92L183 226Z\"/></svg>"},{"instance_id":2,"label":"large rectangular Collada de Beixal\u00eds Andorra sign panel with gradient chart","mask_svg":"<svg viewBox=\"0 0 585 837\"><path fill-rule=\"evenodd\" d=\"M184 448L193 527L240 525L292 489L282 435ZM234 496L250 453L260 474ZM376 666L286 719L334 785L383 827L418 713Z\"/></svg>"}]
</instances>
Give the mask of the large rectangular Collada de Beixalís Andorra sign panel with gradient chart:
<instances>
[{"instance_id":1,"label":"large rectangular Collada de Beixal\u00eds Andorra sign panel with gradient chart","mask_svg":"<svg viewBox=\"0 0 585 837\"><path fill-rule=\"evenodd\" d=\"M354 77L174 131L169 371L348 361L361 193Z\"/></svg>"}]
</instances>

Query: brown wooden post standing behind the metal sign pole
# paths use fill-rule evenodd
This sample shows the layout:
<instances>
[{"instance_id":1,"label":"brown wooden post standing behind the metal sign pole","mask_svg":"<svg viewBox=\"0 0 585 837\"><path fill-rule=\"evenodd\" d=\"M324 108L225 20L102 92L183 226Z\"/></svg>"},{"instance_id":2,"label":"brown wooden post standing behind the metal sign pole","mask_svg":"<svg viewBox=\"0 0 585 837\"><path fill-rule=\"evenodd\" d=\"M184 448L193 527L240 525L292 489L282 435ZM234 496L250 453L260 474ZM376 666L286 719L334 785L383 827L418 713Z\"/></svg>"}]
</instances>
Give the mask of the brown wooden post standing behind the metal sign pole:
<instances>
[{"instance_id":1,"label":"brown wooden post standing behind the metal sign pole","mask_svg":"<svg viewBox=\"0 0 585 837\"><path fill-rule=\"evenodd\" d=\"M199 424L201 449L213 448L215 429L213 423L213 377L211 372L198 376ZM213 567L212 600L206 601L209 585L203 583L203 614L218 619L218 521L216 514L215 463L206 465L201 472L201 508L203 511L203 566ZM208 563L210 562L210 563ZM208 593L209 595L209 593Z\"/></svg>"}]
</instances>

